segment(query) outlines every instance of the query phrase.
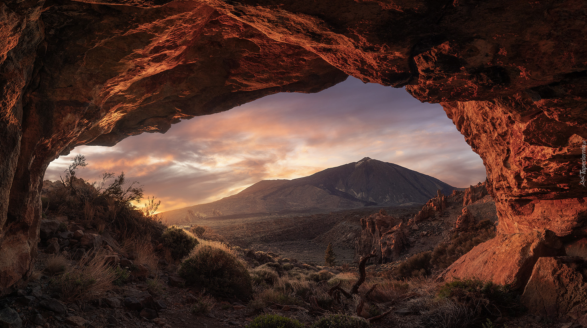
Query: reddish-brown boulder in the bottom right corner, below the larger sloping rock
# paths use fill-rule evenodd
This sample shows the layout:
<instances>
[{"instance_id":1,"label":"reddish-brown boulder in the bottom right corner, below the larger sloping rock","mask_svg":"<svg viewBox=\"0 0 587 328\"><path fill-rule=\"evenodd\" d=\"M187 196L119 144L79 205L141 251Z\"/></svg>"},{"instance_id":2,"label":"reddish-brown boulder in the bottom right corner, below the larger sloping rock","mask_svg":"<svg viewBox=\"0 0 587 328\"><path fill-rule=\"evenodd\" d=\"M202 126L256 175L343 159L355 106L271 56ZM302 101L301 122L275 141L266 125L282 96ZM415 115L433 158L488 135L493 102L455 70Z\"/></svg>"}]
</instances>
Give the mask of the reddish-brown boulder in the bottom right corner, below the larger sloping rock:
<instances>
[{"instance_id":1,"label":"reddish-brown boulder in the bottom right corner, below the larger sloping rock","mask_svg":"<svg viewBox=\"0 0 587 328\"><path fill-rule=\"evenodd\" d=\"M587 312L585 259L571 256L539 258L521 303L535 316L579 320Z\"/></svg>"}]
</instances>

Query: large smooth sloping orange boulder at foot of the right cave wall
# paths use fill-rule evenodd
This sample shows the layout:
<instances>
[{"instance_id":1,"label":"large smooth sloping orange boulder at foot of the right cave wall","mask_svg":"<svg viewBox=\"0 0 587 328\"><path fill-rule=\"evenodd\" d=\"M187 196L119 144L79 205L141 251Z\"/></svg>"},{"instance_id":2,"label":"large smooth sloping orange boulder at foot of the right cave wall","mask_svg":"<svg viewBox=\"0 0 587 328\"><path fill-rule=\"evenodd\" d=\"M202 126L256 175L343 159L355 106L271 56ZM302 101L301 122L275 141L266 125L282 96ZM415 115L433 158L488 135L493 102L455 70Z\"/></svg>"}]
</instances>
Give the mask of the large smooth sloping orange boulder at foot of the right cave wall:
<instances>
[{"instance_id":1,"label":"large smooth sloping orange boulder at foot of the right cave wall","mask_svg":"<svg viewBox=\"0 0 587 328\"><path fill-rule=\"evenodd\" d=\"M564 255L564 248L552 231L497 235L461 256L441 273L440 278L450 281L474 277L522 289L538 258L558 255Z\"/></svg>"}]
</instances>

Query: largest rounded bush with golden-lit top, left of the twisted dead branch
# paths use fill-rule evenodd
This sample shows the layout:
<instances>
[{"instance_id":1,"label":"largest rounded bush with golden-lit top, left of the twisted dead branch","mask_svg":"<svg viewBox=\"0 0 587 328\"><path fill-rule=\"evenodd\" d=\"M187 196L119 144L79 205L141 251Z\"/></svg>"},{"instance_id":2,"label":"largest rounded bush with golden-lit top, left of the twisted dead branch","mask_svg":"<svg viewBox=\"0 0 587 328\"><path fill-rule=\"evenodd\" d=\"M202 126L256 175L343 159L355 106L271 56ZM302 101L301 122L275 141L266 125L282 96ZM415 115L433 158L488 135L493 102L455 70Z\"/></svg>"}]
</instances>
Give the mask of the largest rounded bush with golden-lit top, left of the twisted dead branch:
<instances>
[{"instance_id":1,"label":"largest rounded bush with golden-lit top, left of the twisted dead branch","mask_svg":"<svg viewBox=\"0 0 587 328\"><path fill-rule=\"evenodd\" d=\"M251 276L236 255L221 244L198 245L180 264L178 270L186 285L200 283L212 294L249 297Z\"/></svg>"}]
</instances>

